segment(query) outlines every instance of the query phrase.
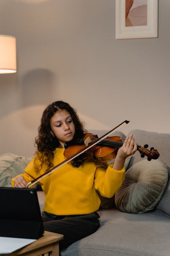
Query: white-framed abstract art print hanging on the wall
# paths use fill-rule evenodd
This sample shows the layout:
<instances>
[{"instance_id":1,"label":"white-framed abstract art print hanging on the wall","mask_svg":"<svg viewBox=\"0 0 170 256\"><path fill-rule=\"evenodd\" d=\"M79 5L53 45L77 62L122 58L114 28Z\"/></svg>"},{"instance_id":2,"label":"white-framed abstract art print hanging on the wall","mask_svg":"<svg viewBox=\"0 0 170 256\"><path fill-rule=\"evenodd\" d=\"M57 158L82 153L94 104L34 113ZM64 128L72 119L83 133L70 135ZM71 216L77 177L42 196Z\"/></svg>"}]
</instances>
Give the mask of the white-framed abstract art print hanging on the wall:
<instances>
[{"instance_id":1,"label":"white-framed abstract art print hanging on the wall","mask_svg":"<svg viewBox=\"0 0 170 256\"><path fill-rule=\"evenodd\" d=\"M116 39L157 37L158 0L116 0Z\"/></svg>"}]
</instances>

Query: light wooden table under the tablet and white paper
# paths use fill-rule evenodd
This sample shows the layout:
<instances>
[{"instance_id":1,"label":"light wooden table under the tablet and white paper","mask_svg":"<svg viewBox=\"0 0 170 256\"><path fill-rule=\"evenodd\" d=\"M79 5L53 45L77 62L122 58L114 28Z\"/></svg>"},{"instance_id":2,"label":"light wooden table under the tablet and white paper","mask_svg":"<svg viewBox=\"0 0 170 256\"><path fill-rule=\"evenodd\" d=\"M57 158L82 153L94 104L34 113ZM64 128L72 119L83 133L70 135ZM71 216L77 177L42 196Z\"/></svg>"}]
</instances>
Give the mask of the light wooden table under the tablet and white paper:
<instances>
[{"instance_id":1,"label":"light wooden table under the tablet and white paper","mask_svg":"<svg viewBox=\"0 0 170 256\"><path fill-rule=\"evenodd\" d=\"M43 237L35 242L10 254L0 254L0 256L59 256L59 241L64 236L62 234L44 231Z\"/></svg>"}]
</instances>

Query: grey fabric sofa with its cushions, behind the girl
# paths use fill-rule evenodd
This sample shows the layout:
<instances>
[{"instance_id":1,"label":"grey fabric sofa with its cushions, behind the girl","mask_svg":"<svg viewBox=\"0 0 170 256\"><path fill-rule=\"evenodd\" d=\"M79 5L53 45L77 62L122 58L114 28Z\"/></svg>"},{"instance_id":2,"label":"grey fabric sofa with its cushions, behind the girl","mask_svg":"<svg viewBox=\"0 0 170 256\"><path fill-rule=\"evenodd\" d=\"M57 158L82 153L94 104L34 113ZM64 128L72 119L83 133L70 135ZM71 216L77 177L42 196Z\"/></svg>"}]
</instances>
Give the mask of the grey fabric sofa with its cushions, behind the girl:
<instances>
[{"instance_id":1,"label":"grey fabric sofa with its cushions, behind the girl","mask_svg":"<svg viewBox=\"0 0 170 256\"><path fill-rule=\"evenodd\" d=\"M105 133L90 132L99 137ZM126 160L121 188L113 198L101 197L100 228L63 250L62 256L170 256L170 134L143 130L130 133L139 145L157 149L159 158L148 161L137 151ZM112 136L116 135L125 139L120 131ZM29 161L13 154L1 155L0 186L10 186L16 169L23 172ZM43 191L38 191L38 198L42 210Z\"/></svg>"}]
</instances>

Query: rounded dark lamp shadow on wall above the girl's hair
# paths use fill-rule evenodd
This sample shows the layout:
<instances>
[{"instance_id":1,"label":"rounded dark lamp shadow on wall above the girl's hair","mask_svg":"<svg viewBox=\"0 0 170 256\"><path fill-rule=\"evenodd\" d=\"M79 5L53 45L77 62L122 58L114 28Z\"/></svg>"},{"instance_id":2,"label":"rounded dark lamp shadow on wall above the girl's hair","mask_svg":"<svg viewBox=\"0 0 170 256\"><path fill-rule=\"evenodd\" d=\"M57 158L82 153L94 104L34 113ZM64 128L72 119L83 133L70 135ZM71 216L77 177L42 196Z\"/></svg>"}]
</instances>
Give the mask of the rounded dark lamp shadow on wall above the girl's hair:
<instances>
[{"instance_id":1,"label":"rounded dark lamp shadow on wall above the girl's hair","mask_svg":"<svg viewBox=\"0 0 170 256\"><path fill-rule=\"evenodd\" d=\"M22 106L47 105L52 100L54 73L47 69L34 69L21 79Z\"/></svg>"}]
</instances>

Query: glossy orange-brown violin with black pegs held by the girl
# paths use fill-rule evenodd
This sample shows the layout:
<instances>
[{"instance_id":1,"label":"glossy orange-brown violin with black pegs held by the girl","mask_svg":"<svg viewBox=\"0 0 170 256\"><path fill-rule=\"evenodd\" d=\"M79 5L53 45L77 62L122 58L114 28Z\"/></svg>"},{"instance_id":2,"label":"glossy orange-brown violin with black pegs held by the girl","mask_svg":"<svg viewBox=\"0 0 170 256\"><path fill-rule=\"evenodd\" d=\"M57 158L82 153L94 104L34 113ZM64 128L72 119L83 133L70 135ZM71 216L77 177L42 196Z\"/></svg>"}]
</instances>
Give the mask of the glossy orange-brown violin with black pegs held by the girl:
<instances>
[{"instance_id":1,"label":"glossy orange-brown violin with black pegs held by the girl","mask_svg":"<svg viewBox=\"0 0 170 256\"><path fill-rule=\"evenodd\" d=\"M79 151L86 148L89 143L92 143L98 139L98 136L92 133L85 133L83 138L77 140L77 144L69 145L65 143L65 151L64 155L66 157L71 157L72 155L78 153ZM84 154L76 157L71 163L73 166L79 167L81 163L88 157L93 157L96 160L100 160L102 162L108 162L114 159L117 155L118 149L123 145L122 138L119 136L107 137L106 139L98 142L95 146L91 147ZM137 146L137 150L140 152L140 156L143 158L147 156L148 161L151 159L157 159L159 157L159 153L153 147L150 150L147 149L148 145L144 145L144 147Z\"/></svg>"}]
</instances>

